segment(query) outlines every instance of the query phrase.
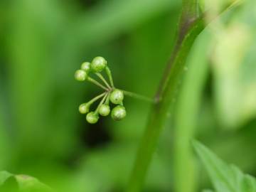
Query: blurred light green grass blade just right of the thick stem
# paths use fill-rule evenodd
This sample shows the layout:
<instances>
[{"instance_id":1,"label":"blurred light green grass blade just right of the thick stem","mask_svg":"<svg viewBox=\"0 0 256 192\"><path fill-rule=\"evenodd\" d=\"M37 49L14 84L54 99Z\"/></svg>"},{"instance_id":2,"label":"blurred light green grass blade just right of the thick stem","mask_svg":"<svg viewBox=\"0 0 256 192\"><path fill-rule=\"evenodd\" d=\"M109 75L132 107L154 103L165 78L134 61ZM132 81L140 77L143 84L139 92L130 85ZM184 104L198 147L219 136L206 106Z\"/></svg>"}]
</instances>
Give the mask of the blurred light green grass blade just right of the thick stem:
<instances>
[{"instance_id":1,"label":"blurred light green grass blade just right of the thick stem","mask_svg":"<svg viewBox=\"0 0 256 192\"><path fill-rule=\"evenodd\" d=\"M203 87L208 75L208 46L211 33L204 31L194 44L188 61L186 75L178 97L174 117L174 175L175 188L178 192L196 191L196 167L191 149L191 139L196 132ZM186 175L186 185L184 185Z\"/></svg>"}]
</instances>

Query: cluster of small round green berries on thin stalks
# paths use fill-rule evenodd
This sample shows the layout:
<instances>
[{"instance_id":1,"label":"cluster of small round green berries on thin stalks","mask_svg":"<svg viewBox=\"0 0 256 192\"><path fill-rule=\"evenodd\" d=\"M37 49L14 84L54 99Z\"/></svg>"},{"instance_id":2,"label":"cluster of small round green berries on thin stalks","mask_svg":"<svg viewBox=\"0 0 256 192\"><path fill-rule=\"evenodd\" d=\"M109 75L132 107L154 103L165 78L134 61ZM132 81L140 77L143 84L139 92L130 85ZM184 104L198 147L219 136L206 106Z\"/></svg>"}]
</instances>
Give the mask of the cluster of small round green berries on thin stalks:
<instances>
[{"instance_id":1,"label":"cluster of small round green berries on thin stalks","mask_svg":"<svg viewBox=\"0 0 256 192\"><path fill-rule=\"evenodd\" d=\"M110 80L110 84L107 82L107 80L105 80L105 78L101 74L104 70L107 73L107 76ZM105 85L102 85L97 80L91 78L89 75L92 73L97 75L97 77L100 78L100 80L102 80L102 82L104 82ZM90 124L95 124L99 120L100 115L106 117L110 114L110 112L112 119L117 121L124 119L124 117L127 114L123 104L124 93L128 93L129 95L129 92L125 92L114 87L112 74L110 68L108 68L107 66L107 60L105 60L105 58L96 57L92 60L91 63L82 63L80 70L77 70L75 72L75 79L78 81L87 80L105 90L105 92L103 92L101 95L97 95L89 102L82 103L79 106L79 112L81 114L87 114L87 122L89 122ZM102 98L102 100L100 101L100 104L97 106L96 110L90 112L90 106L100 98ZM116 105L112 109L112 111L110 110L110 102Z\"/></svg>"}]
</instances>

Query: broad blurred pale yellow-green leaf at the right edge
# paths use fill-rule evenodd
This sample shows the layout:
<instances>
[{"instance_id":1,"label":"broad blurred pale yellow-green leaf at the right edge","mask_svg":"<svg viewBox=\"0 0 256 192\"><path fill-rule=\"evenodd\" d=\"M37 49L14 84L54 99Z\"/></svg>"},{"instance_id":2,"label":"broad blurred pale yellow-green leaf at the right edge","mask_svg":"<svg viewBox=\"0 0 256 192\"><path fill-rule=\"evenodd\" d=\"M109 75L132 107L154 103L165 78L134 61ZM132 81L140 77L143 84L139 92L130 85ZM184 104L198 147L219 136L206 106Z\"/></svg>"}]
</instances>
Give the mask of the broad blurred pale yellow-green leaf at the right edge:
<instances>
[{"instance_id":1,"label":"broad blurred pale yellow-green leaf at the right edge","mask_svg":"<svg viewBox=\"0 0 256 192\"><path fill-rule=\"evenodd\" d=\"M256 1L246 1L213 30L215 100L223 127L237 128L256 115ZM226 19L227 20L227 19Z\"/></svg>"}]
</instances>

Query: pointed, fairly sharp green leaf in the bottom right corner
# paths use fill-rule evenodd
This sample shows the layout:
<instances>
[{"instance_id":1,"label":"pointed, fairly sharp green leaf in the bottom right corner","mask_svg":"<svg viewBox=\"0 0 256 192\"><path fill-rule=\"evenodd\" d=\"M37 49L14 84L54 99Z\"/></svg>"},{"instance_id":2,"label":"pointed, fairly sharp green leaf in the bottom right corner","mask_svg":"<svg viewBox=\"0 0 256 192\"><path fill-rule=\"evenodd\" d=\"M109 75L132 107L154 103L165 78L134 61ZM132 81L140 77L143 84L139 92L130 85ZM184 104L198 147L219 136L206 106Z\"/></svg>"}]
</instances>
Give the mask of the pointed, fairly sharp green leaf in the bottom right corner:
<instances>
[{"instance_id":1,"label":"pointed, fairly sharp green leaf in the bottom right corner","mask_svg":"<svg viewBox=\"0 0 256 192\"><path fill-rule=\"evenodd\" d=\"M256 180L243 174L238 167L228 165L200 142L193 142L217 192L255 192Z\"/></svg>"}]
</instances>

